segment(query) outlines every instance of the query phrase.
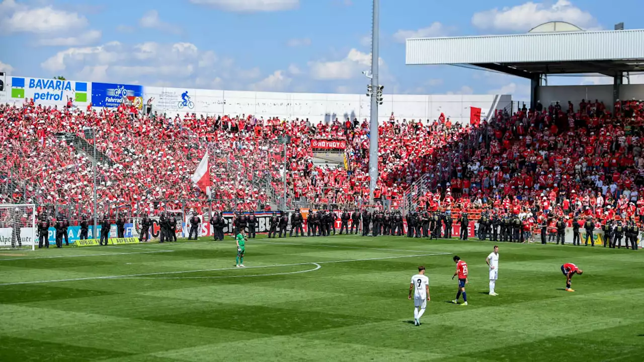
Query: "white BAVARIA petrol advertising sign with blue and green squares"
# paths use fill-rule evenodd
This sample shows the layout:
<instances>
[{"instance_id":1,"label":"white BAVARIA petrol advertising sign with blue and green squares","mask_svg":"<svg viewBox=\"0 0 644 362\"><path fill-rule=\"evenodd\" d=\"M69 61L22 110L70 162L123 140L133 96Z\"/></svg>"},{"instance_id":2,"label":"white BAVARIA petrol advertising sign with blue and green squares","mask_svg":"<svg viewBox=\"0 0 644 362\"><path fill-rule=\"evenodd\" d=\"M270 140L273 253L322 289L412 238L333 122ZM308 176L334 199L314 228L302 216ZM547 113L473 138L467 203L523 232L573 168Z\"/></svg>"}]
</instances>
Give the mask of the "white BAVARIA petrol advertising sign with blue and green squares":
<instances>
[{"instance_id":1,"label":"white BAVARIA petrol advertising sign with blue and green squares","mask_svg":"<svg viewBox=\"0 0 644 362\"><path fill-rule=\"evenodd\" d=\"M86 82L63 81L60 79L10 77L6 89L12 100L33 99L35 104L66 106L67 100L74 103L88 101Z\"/></svg>"}]
</instances>

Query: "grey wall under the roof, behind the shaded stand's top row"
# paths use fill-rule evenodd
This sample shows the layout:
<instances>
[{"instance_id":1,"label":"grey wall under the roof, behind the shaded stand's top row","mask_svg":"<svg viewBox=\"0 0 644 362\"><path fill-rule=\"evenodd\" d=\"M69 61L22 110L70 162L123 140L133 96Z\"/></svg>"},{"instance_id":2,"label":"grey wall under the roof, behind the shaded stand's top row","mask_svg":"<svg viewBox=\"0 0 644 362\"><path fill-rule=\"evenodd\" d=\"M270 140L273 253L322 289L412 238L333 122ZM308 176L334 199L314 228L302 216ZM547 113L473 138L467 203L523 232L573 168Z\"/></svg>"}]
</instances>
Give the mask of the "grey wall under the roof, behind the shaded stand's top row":
<instances>
[{"instance_id":1,"label":"grey wall under the roof, behind the shaded stand's top row","mask_svg":"<svg viewBox=\"0 0 644 362\"><path fill-rule=\"evenodd\" d=\"M541 86L538 90L538 99L541 104L548 106L551 103L559 102L564 110L570 100L577 108L582 99L595 99L603 101L606 108L612 111L612 84L600 86ZM623 84L620 87L620 99L644 99L644 84Z\"/></svg>"}]
</instances>

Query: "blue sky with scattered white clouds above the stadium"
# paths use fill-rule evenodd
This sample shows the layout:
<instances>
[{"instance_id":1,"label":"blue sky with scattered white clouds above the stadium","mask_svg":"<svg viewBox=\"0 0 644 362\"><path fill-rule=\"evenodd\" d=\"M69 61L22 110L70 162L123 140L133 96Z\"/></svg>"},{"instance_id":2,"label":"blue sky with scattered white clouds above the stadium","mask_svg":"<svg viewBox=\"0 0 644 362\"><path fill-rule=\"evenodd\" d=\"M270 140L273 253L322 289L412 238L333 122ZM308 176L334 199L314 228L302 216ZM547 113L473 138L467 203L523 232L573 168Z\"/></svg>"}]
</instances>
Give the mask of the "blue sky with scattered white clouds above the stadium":
<instances>
[{"instance_id":1,"label":"blue sky with scattered white clouds above the stadium","mask_svg":"<svg viewBox=\"0 0 644 362\"><path fill-rule=\"evenodd\" d=\"M223 90L363 93L371 0L3 0L0 71ZM528 82L454 66L405 66L404 39L523 33L546 21L643 28L641 0L381 0L385 93L504 93ZM633 10L633 11L630 11ZM639 17L639 19L638 19ZM641 80L641 76L639 76ZM644 81L644 80L643 80ZM550 84L599 84L565 77Z\"/></svg>"}]
</instances>

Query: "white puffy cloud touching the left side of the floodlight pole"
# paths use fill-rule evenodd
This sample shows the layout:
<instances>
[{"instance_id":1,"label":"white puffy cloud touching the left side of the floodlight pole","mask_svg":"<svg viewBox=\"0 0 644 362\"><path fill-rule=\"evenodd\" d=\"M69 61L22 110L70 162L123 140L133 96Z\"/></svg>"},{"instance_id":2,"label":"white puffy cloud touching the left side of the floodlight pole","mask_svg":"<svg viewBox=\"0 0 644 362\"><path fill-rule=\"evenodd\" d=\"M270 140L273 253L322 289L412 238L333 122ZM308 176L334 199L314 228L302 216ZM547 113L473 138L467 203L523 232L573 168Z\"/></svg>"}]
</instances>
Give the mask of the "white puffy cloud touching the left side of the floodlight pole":
<instances>
[{"instance_id":1,"label":"white puffy cloud touching the left side of the floodlight pole","mask_svg":"<svg viewBox=\"0 0 644 362\"><path fill-rule=\"evenodd\" d=\"M383 59L379 60L379 64L384 64ZM308 62L308 66L313 79L352 79L370 68L371 54L352 49L341 61L314 61Z\"/></svg>"}]
</instances>

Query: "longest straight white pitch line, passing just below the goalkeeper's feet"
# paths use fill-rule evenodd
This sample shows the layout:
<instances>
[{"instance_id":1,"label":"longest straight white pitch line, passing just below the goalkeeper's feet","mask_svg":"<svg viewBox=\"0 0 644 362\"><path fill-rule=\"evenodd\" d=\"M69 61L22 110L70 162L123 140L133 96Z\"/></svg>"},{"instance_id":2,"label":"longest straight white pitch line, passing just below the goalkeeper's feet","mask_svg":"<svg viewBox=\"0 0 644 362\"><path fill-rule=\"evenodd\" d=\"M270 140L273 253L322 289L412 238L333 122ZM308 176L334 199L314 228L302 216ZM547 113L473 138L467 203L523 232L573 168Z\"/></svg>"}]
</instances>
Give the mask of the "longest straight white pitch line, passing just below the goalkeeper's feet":
<instances>
[{"instance_id":1,"label":"longest straight white pitch line, passing just below the goalkeeper's feet","mask_svg":"<svg viewBox=\"0 0 644 362\"><path fill-rule=\"evenodd\" d=\"M330 260L326 262L307 262L307 263L292 263L292 264L276 264L276 265L258 265L255 267L246 267L249 268L272 268L272 267L292 267L294 265L308 265L312 263L317 264L327 264L327 263L348 263L348 262L365 262L369 260L386 260L386 259L397 259L397 258L417 258L420 256L435 256L435 255L448 255L451 252L433 252L430 254L417 254L417 255L401 255L401 256L384 256L383 258L364 258L364 259L348 259L348 260ZM38 283L57 283L59 281L79 281L79 280L99 280L99 279L126 279L136 276L151 276L151 275L167 275L167 274L185 274L189 272L207 272L207 271L225 271L237 269L235 268L218 268L218 269L198 269L193 271L171 271L171 272L147 272L142 274L125 274L125 275L108 275L108 276L90 276L87 278L71 278L71 279L57 279L57 280L35 280L35 281L17 281L14 283L0 283L0 286L3 285L21 285L21 284L38 284Z\"/></svg>"}]
</instances>

